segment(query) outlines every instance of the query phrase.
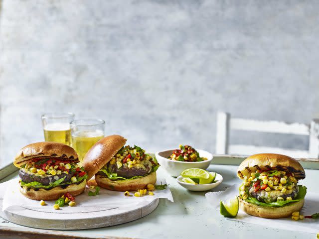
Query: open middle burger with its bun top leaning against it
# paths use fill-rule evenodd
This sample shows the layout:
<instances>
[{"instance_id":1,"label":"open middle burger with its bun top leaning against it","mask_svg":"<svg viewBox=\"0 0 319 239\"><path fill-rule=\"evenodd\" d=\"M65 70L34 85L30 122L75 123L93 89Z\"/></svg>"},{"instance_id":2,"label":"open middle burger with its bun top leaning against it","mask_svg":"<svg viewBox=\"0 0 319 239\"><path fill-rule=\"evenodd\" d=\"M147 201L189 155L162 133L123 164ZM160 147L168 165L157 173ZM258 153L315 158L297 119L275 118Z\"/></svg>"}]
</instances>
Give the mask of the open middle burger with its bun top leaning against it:
<instances>
[{"instance_id":1,"label":"open middle burger with its bun top leaning against it","mask_svg":"<svg viewBox=\"0 0 319 239\"><path fill-rule=\"evenodd\" d=\"M88 179L113 191L134 191L156 183L159 164L139 146L124 146L126 138L110 135L100 139L83 159Z\"/></svg>"}]
</instances>

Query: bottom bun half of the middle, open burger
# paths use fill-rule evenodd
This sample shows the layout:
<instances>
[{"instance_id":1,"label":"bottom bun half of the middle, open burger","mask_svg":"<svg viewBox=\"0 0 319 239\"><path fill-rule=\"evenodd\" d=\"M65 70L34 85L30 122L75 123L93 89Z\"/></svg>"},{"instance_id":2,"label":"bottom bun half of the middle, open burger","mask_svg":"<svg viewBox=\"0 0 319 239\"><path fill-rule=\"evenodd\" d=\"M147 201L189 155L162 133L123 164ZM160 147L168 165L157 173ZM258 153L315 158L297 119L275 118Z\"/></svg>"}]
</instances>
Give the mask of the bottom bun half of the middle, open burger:
<instances>
[{"instance_id":1,"label":"bottom bun half of the middle, open burger","mask_svg":"<svg viewBox=\"0 0 319 239\"><path fill-rule=\"evenodd\" d=\"M135 191L146 188L148 184L155 185L156 172L152 172L145 177L129 180L111 180L106 176L95 175L95 181L100 187L105 189L121 192Z\"/></svg>"}]
</instances>

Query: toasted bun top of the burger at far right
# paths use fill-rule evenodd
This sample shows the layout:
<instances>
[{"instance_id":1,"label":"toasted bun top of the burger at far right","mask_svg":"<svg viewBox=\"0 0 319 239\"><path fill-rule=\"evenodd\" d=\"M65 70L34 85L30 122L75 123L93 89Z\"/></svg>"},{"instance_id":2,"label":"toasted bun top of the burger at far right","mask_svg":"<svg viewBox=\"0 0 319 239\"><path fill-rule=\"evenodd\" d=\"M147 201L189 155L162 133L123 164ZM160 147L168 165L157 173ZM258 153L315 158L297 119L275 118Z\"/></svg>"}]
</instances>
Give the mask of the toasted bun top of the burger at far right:
<instances>
[{"instance_id":1,"label":"toasted bun top of the burger at far right","mask_svg":"<svg viewBox=\"0 0 319 239\"><path fill-rule=\"evenodd\" d=\"M260 153L249 156L239 165L237 176L244 179L244 176L250 176L257 169L292 172L297 180L306 177L303 166L296 159L275 153Z\"/></svg>"}]
</instances>

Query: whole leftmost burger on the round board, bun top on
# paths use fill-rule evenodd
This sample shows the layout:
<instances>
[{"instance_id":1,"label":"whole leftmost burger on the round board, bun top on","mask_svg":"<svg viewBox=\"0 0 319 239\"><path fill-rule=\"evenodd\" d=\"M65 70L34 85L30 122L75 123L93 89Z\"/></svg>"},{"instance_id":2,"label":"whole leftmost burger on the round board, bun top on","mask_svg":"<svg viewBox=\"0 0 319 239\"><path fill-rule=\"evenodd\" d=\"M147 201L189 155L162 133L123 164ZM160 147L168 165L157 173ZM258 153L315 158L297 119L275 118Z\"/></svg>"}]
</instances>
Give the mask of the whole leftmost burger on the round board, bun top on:
<instances>
[{"instance_id":1,"label":"whole leftmost burger on the round board, bun top on","mask_svg":"<svg viewBox=\"0 0 319 239\"><path fill-rule=\"evenodd\" d=\"M14 159L20 168L20 192L33 200L56 200L85 189L87 174L77 163L75 150L63 143L38 142L23 147Z\"/></svg>"}]
</instances>

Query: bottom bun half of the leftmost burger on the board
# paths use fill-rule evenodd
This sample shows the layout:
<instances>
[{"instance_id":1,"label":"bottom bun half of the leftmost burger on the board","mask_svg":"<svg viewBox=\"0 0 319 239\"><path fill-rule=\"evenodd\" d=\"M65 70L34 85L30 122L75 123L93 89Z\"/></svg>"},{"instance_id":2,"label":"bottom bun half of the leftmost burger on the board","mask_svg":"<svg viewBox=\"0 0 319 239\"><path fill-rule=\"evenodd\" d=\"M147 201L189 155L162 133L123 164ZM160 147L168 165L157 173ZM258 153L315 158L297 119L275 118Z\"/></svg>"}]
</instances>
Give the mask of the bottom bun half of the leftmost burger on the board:
<instances>
[{"instance_id":1,"label":"bottom bun half of the leftmost burger on the board","mask_svg":"<svg viewBox=\"0 0 319 239\"><path fill-rule=\"evenodd\" d=\"M62 195L64 195L66 192L69 192L73 197L80 195L84 192L86 184L86 179L84 179L81 183L72 183L68 185L67 187L61 187L56 186L51 189L33 189L33 188L27 188L25 186L20 186L20 192L27 198L33 199L33 200L57 200Z\"/></svg>"}]
</instances>

